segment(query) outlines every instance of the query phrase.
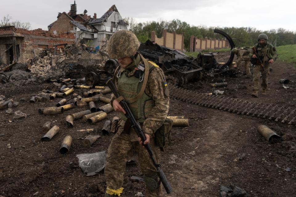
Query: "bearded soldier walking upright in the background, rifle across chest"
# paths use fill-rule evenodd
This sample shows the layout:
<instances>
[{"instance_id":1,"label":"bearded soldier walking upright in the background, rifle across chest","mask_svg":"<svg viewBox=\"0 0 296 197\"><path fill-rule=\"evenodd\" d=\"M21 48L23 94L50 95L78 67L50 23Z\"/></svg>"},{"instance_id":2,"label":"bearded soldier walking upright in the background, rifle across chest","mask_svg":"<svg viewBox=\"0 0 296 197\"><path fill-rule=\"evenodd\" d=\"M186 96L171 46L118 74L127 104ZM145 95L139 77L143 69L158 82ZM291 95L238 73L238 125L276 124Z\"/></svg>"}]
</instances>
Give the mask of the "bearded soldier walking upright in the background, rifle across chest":
<instances>
[{"instance_id":1,"label":"bearded soldier walking upright in the background, rifle across chest","mask_svg":"<svg viewBox=\"0 0 296 197\"><path fill-rule=\"evenodd\" d=\"M258 43L254 45L254 48L256 49L257 54L260 57L260 60L263 63L264 70L266 73L266 76L263 72L263 68L260 65L259 61L257 60L256 55L252 52L250 53L250 57L252 57L251 61L255 65L253 69L253 84L252 84L252 97L258 97L258 91L259 91L259 79L260 79L260 73L262 75L262 95L266 95L266 90L268 88L268 76L269 76L269 65L272 64L277 58L278 58L278 52L275 49L275 47L269 43L267 43L267 35L264 33L261 33L258 38Z\"/></svg>"}]
</instances>

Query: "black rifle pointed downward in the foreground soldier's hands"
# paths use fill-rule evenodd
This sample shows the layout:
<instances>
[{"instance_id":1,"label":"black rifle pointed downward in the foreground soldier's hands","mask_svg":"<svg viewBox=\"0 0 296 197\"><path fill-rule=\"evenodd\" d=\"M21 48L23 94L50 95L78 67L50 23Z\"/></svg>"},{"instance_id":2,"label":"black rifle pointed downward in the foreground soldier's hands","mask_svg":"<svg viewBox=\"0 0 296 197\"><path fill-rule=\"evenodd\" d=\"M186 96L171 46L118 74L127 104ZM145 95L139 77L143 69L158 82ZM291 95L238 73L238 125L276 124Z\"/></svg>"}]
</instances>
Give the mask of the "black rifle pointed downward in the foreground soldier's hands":
<instances>
[{"instance_id":1,"label":"black rifle pointed downward in the foreground soldier's hands","mask_svg":"<svg viewBox=\"0 0 296 197\"><path fill-rule=\"evenodd\" d=\"M109 86L109 88L111 89L114 96L119 98L120 94L117 91L111 77L109 77L107 79L106 84ZM126 112L125 116L130 120L130 123L131 123L132 127L136 130L138 137L140 137L142 142L144 142L146 140L146 136L145 136L142 128L140 127L140 124L136 121L133 113L130 111L130 108L127 105L127 102L125 100L121 100L119 103L121 104L122 108L125 110L125 112ZM151 158L154 166L157 169L157 174L158 174L160 182L162 183L163 187L167 191L167 194L170 194L173 191L172 188L171 188L171 185L167 181L167 177L164 175L162 169L160 168L160 164L156 164L156 161L155 161L155 159L153 157L153 152L152 152L152 149L151 149L150 145L149 144L143 144L143 146L147 149L147 151L148 151L148 153L150 155L150 158Z\"/></svg>"}]
</instances>

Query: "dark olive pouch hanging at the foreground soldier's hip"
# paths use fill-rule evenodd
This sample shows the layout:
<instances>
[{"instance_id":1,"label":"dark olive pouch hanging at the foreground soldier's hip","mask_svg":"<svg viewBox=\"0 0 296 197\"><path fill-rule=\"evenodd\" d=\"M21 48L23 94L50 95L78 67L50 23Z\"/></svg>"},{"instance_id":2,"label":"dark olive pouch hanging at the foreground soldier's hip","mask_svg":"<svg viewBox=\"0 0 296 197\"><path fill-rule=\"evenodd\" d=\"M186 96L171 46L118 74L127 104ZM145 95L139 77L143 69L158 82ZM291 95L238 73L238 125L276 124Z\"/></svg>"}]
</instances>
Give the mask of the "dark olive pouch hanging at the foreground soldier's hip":
<instances>
[{"instance_id":1,"label":"dark olive pouch hanging at the foreground soldier's hip","mask_svg":"<svg viewBox=\"0 0 296 197\"><path fill-rule=\"evenodd\" d=\"M170 132L173 126L173 120L167 118L164 123L155 132L155 143L158 145L162 151L166 143L166 138L170 142Z\"/></svg>"}]
</instances>

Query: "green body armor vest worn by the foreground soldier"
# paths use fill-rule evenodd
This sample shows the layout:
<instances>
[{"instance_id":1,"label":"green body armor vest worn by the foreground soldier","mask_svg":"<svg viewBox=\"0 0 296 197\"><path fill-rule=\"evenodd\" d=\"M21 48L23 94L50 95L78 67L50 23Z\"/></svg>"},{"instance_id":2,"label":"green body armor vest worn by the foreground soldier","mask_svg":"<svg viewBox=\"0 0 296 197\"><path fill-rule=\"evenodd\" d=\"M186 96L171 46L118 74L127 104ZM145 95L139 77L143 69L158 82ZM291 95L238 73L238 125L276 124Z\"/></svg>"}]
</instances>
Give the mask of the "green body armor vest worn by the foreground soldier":
<instances>
[{"instance_id":1,"label":"green body armor vest worn by the foreground soldier","mask_svg":"<svg viewBox=\"0 0 296 197\"><path fill-rule=\"evenodd\" d=\"M151 72L153 68L154 66L149 64L149 72ZM120 77L117 78L117 82L117 90L119 94L124 97L125 100L136 97L140 93L143 85L143 80L140 81L140 79L135 76L127 77L125 75L125 71L122 72ZM135 119L139 123L143 123L146 120L151 109L155 106L154 100L145 92L138 100L128 105ZM127 119L122 112L119 113L119 117L122 120Z\"/></svg>"}]
</instances>

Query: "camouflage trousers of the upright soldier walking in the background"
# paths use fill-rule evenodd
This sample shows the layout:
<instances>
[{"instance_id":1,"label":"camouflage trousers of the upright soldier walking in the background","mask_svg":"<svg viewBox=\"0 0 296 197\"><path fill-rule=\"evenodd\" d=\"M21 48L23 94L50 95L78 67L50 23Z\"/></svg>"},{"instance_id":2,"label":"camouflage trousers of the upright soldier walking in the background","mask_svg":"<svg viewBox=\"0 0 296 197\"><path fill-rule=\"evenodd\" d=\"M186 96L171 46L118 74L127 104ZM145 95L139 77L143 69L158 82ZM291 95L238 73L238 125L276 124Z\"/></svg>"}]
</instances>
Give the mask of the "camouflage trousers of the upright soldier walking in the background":
<instances>
[{"instance_id":1,"label":"camouflage trousers of the upright soldier walking in the background","mask_svg":"<svg viewBox=\"0 0 296 197\"><path fill-rule=\"evenodd\" d=\"M262 75L262 83L261 87L262 89L267 89L268 88L268 77L269 77L269 64L264 66L264 70L266 73L266 76L263 72L263 68L261 65L255 65L253 69L253 83L252 83L252 89L253 91L258 91L259 90L259 80L260 80L260 73Z\"/></svg>"}]
</instances>

